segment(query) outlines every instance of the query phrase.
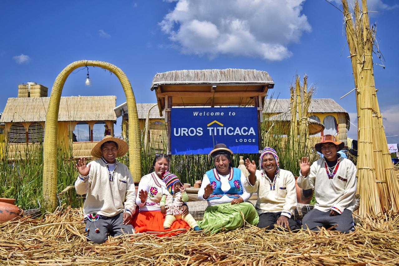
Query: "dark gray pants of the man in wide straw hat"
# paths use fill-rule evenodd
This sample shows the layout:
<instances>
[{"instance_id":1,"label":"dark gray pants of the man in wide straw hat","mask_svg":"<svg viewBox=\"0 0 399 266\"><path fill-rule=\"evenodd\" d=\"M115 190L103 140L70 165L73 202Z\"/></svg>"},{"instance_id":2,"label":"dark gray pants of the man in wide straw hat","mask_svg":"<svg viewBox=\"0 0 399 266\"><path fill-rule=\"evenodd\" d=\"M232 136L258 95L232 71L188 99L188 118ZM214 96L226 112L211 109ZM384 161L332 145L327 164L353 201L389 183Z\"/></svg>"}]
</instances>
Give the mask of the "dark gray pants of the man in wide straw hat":
<instances>
[{"instance_id":1,"label":"dark gray pants of the man in wide straw hat","mask_svg":"<svg viewBox=\"0 0 399 266\"><path fill-rule=\"evenodd\" d=\"M133 234L132 225L123 225L123 213L119 213L112 217L101 216L101 218L95 222L87 219L86 228L89 229L87 238L96 244L104 243L108 238L108 233L111 236L119 236L122 234L122 231L124 234ZM99 229L98 233L96 233L96 228Z\"/></svg>"}]
</instances>

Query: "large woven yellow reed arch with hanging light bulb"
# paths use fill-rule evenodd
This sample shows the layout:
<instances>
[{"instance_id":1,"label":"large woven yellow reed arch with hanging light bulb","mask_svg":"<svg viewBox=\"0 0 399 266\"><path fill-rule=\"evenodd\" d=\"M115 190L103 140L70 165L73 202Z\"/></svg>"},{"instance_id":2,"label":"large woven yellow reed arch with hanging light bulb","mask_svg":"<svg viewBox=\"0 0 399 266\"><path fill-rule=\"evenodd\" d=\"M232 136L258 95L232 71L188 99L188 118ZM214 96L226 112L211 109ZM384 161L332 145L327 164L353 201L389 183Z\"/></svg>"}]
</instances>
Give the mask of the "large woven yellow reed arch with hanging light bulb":
<instances>
[{"instance_id":1,"label":"large woven yellow reed arch with hanging light bulb","mask_svg":"<svg viewBox=\"0 0 399 266\"><path fill-rule=\"evenodd\" d=\"M57 204L57 122L61 92L69 74L79 67L101 67L107 69L118 77L126 95L129 119L129 169L135 182L141 178L141 147L140 129L138 126L138 115L136 100L132 85L125 73L119 67L103 61L81 60L67 65L55 79L51 90L49 106L47 110L44 147L43 147L43 198L46 209L55 209ZM84 106L82 106L84 110Z\"/></svg>"}]
</instances>

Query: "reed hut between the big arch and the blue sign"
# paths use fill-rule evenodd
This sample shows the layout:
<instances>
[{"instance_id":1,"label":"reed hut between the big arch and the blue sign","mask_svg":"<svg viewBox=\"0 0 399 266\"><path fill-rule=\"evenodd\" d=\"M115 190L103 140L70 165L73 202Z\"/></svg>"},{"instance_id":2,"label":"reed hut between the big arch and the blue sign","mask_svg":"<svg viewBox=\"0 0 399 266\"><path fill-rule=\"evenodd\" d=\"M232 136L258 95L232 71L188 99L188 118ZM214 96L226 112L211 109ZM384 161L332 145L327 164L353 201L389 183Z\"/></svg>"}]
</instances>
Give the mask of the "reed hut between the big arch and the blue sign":
<instances>
[{"instance_id":1,"label":"reed hut between the big arch and the blue sign","mask_svg":"<svg viewBox=\"0 0 399 266\"><path fill-rule=\"evenodd\" d=\"M142 136L144 134L147 134L149 147L155 149L156 152L161 152L164 148L166 148L168 136L166 132L164 112L162 112L161 116L158 108L153 108L154 105L156 106L156 103L136 104L137 114L138 114L138 124ZM117 118L122 116L122 136L123 138L127 139L129 119L128 119L128 110L126 102L115 107L114 110ZM145 128L147 116L148 116L148 130Z\"/></svg>"}]
</instances>

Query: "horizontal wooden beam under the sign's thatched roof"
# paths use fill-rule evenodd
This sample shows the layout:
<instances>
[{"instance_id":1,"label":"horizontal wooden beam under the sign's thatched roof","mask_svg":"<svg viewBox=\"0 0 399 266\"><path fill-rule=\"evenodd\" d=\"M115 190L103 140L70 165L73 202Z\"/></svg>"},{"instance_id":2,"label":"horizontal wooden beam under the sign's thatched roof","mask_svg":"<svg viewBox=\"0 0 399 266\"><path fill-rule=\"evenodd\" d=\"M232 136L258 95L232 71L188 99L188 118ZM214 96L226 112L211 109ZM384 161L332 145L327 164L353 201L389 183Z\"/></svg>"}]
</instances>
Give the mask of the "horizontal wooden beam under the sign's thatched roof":
<instances>
[{"instance_id":1,"label":"horizontal wooden beam under the sign's thatched roof","mask_svg":"<svg viewBox=\"0 0 399 266\"><path fill-rule=\"evenodd\" d=\"M168 93L158 93L158 97L165 97L166 95L171 97L255 97L264 96L266 93L261 93L259 91L221 91L221 92L168 92Z\"/></svg>"}]
</instances>

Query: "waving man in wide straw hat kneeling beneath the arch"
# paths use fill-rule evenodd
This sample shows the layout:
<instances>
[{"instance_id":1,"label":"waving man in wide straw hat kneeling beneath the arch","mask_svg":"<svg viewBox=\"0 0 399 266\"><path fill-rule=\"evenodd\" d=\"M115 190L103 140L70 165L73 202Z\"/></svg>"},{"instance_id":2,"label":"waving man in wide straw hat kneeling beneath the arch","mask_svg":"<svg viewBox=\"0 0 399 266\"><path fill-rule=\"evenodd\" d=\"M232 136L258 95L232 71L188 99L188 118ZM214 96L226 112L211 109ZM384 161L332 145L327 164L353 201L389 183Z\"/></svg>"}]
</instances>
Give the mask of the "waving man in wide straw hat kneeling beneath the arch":
<instances>
[{"instance_id":1,"label":"waving man in wide straw hat kneeling beneath the arch","mask_svg":"<svg viewBox=\"0 0 399 266\"><path fill-rule=\"evenodd\" d=\"M76 192L87 194L83 204L87 238L97 244L105 242L108 233L133 233L130 220L136 209L134 182L128 167L116 161L127 150L123 140L105 136L91 150L91 155L99 159L86 165L86 158L80 158L76 164Z\"/></svg>"}]
</instances>

